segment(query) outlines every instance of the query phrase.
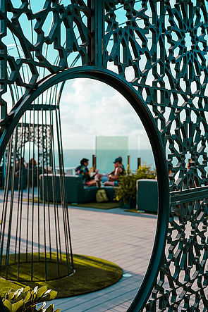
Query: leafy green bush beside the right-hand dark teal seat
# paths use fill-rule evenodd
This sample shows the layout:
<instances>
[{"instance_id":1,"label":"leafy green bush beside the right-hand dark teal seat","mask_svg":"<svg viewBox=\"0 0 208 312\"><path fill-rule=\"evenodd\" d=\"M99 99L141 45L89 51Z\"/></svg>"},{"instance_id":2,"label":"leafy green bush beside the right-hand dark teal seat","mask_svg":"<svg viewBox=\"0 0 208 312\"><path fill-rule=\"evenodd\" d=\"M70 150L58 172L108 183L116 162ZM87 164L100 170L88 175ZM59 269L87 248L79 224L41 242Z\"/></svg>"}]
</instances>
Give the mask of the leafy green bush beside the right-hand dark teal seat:
<instances>
[{"instance_id":1,"label":"leafy green bush beside the right-hand dark teal seat","mask_svg":"<svg viewBox=\"0 0 208 312\"><path fill-rule=\"evenodd\" d=\"M118 179L118 189L116 189L116 200L122 208L136 208L137 189L136 182L140 179L155 179L156 172L151 170L151 166L142 164L135 173L127 167L126 175L121 175Z\"/></svg>"}]
</instances>

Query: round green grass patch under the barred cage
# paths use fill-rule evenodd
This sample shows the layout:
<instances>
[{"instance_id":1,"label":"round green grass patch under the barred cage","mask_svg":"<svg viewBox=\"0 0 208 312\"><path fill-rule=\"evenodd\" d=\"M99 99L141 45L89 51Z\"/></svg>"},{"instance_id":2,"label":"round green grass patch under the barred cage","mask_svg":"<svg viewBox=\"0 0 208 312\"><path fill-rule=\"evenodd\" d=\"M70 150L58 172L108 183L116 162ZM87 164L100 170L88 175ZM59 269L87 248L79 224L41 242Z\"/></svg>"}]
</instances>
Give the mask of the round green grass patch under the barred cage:
<instances>
[{"instance_id":1,"label":"round green grass patch under the barred cage","mask_svg":"<svg viewBox=\"0 0 208 312\"><path fill-rule=\"evenodd\" d=\"M30 286L32 288L46 285L49 289L56 290L58 295L56 298L72 297L88 292L95 292L99 289L109 287L118 282L123 275L123 270L116 266L115 263L95 258L92 256L73 255L75 273L66 276L66 256L62 255L60 275L57 278L56 253L51 254L51 259L47 258L47 280L44 280L45 263L38 261L37 254L34 254L33 281L31 282L31 263L25 262L25 254L20 254L20 282L13 280L16 277L17 263L13 263L14 258L11 255L8 268L8 280L6 277L6 268L1 267L0 277L0 295L4 297L9 289L19 289L21 287ZM41 254L43 256L43 254ZM49 256L49 254L47 254ZM4 259L3 259L4 260ZM28 259L29 260L29 259ZM3 261L4 263L4 261Z\"/></svg>"}]
</instances>

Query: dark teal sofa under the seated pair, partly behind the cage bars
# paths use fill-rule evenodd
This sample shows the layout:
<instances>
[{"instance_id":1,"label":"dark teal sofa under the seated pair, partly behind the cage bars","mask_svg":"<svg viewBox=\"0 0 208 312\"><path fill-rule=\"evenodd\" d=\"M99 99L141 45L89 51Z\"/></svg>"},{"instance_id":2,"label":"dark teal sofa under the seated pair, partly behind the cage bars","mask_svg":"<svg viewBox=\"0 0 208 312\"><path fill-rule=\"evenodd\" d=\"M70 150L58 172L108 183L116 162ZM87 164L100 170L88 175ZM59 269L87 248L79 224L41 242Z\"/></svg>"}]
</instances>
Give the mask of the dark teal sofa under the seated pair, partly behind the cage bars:
<instances>
[{"instance_id":1,"label":"dark teal sofa under the seated pair, partly behind the cage bars","mask_svg":"<svg viewBox=\"0 0 208 312\"><path fill-rule=\"evenodd\" d=\"M44 180L44 184L43 184ZM82 177L79 175L65 175L66 181L66 198L68 203L87 203L90 201L96 201L96 193L99 187L84 187L82 183ZM63 185L63 181L59 174L53 176L52 174L44 174L39 176L40 185L40 199L45 201L61 202L60 185ZM53 192L53 189L56 192ZM106 190L106 195L109 201L114 199L114 187L102 187ZM62 195L63 196L63 195Z\"/></svg>"}]
</instances>

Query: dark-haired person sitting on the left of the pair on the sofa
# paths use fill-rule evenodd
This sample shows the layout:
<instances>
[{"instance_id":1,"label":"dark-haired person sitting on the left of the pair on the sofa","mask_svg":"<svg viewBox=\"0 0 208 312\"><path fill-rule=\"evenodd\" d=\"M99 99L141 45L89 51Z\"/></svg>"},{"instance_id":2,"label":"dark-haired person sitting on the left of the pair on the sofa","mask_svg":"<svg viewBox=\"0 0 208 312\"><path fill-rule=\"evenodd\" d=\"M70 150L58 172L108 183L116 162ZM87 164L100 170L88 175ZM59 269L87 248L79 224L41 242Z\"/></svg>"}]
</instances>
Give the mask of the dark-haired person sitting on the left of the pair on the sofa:
<instances>
[{"instance_id":1,"label":"dark-haired person sitting on the left of the pair on the sofa","mask_svg":"<svg viewBox=\"0 0 208 312\"><path fill-rule=\"evenodd\" d=\"M94 175L91 177L89 170L87 168L88 163L89 163L89 159L82 158L82 160L80 161L80 166L75 168L75 174L82 175L83 185L87 187L96 187L98 183L98 187L100 187L100 182L97 179L98 171L96 171Z\"/></svg>"}]
</instances>

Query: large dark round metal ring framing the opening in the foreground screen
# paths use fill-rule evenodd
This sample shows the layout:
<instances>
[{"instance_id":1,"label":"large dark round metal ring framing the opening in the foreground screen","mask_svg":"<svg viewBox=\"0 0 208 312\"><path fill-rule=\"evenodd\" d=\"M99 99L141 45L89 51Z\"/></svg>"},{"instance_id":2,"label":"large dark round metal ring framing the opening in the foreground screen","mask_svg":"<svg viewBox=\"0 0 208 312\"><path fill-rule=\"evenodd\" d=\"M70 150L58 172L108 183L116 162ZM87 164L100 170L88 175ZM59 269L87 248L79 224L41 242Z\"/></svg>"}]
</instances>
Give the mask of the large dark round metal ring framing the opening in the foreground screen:
<instances>
[{"instance_id":1,"label":"large dark round metal ring framing the opening in the foreground screen","mask_svg":"<svg viewBox=\"0 0 208 312\"><path fill-rule=\"evenodd\" d=\"M20 120L23 113L27 111L30 104L32 104L32 102L45 90L49 89L49 87L52 87L59 82L80 77L99 80L121 93L128 100L130 105L133 106L137 116L140 117L140 120L142 121L142 124L147 132L147 136L149 137L149 142L152 146L154 161L157 168L159 191L157 231L154 239L152 256L150 258L145 277L142 280L142 285L140 286L135 299L133 299L130 308L128 308L128 311L140 311L144 308L147 299L149 298L149 294L151 293L154 283L157 280L159 268L163 261L164 249L166 245L166 231L169 222L169 176L166 166L165 147L161 140L161 135L159 134L157 125L154 123L154 118L149 112L147 106L145 106L145 102L142 97L132 87L132 85L130 85L130 83L122 77L116 75L116 73L95 66L69 68L54 75L47 76L37 84L36 89L33 89L30 94L23 96L23 98L18 101L18 108L16 108L15 113L13 113L9 124L6 126L0 139L0 160L4 154L4 150L6 149L6 144L8 144L8 140L18 123L18 120Z\"/></svg>"}]
</instances>

